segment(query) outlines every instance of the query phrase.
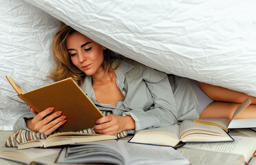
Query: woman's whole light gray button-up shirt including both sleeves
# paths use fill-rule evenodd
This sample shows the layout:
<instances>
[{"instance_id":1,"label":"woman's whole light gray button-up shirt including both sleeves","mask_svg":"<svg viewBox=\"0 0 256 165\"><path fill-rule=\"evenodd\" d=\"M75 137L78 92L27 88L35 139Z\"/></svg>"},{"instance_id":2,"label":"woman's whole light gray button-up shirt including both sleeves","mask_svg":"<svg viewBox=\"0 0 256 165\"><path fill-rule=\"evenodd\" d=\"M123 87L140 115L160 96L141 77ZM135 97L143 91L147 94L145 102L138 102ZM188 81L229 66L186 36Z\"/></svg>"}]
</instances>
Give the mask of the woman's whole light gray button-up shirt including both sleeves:
<instances>
[{"instance_id":1,"label":"woman's whole light gray button-up shirt including both sleeves","mask_svg":"<svg viewBox=\"0 0 256 165\"><path fill-rule=\"evenodd\" d=\"M136 61L121 61L114 72L116 84L124 96L116 106L97 102L91 76L85 78L81 89L98 109L116 115L131 115L136 124L135 131L198 118L198 102L189 79L168 77ZM24 119L33 117L32 113L21 116L14 124L14 131L29 130Z\"/></svg>"}]
</instances>

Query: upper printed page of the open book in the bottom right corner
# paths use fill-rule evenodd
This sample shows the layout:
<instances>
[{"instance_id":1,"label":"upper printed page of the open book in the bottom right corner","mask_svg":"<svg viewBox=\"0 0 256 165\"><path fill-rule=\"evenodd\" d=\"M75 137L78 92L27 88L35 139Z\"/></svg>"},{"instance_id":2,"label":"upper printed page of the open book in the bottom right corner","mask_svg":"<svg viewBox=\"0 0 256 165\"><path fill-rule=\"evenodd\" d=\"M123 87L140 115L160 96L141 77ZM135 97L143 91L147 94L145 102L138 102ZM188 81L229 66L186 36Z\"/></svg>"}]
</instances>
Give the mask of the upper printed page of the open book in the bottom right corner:
<instances>
[{"instance_id":1,"label":"upper printed page of the open book in the bottom right corner","mask_svg":"<svg viewBox=\"0 0 256 165\"><path fill-rule=\"evenodd\" d=\"M207 151L218 151L223 153L234 153L243 155L248 161L256 148L256 138L234 136L234 142L220 143L186 143L186 148L197 148Z\"/></svg>"}]
</instances>

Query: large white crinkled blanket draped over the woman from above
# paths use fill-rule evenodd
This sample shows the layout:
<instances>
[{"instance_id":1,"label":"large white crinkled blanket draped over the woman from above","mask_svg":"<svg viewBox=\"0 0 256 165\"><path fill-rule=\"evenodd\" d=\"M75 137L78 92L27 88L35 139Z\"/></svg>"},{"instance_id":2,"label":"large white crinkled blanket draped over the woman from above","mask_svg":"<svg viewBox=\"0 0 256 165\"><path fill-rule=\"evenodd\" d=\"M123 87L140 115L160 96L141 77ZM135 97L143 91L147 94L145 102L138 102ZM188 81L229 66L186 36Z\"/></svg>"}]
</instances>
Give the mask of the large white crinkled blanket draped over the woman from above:
<instances>
[{"instance_id":1,"label":"large white crinkled blanket draped over the woman from above","mask_svg":"<svg viewBox=\"0 0 256 165\"><path fill-rule=\"evenodd\" d=\"M256 1L25 1L149 67L256 96Z\"/></svg>"}]
</instances>

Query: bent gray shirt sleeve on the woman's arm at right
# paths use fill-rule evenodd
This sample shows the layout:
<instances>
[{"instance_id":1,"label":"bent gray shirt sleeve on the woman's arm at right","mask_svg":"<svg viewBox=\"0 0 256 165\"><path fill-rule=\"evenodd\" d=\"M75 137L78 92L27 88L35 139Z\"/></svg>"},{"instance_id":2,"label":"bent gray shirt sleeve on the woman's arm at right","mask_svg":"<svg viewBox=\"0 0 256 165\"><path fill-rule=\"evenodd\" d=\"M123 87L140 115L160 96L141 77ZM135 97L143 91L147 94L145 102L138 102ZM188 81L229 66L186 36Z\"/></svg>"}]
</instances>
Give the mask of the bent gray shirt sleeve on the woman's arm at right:
<instances>
[{"instance_id":1,"label":"bent gray shirt sleeve on the woman's arm at right","mask_svg":"<svg viewBox=\"0 0 256 165\"><path fill-rule=\"evenodd\" d=\"M132 109L123 115L131 115L135 120L136 131L174 124L178 112L167 74L147 68L142 75L153 98L153 106L147 110Z\"/></svg>"}]
</instances>

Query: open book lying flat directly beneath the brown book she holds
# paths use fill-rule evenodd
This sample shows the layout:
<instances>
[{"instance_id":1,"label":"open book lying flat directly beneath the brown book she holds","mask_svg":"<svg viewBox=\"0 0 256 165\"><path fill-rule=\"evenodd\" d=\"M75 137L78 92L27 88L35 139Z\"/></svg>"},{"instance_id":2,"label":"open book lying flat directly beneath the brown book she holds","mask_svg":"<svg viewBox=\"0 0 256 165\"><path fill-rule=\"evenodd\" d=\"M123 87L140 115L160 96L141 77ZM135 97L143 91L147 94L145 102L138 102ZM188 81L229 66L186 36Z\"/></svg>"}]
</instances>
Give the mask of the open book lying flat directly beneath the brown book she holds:
<instances>
[{"instance_id":1,"label":"open book lying flat directly beneath the brown book she holds","mask_svg":"<svg viewBox=\"0 0 256 165\"><path fill-rule=\"evenodd\" d=\"M83 142L95 142L100 140L114 140L115 135L102 135L94 133L78 133L78 132L61 132L50 135L45 140L30 140L20 143L18 149L41 147L48 148L50 146L62 146L65 144L76 144Z\"/></svg>"}]
</instances>

